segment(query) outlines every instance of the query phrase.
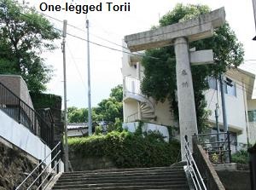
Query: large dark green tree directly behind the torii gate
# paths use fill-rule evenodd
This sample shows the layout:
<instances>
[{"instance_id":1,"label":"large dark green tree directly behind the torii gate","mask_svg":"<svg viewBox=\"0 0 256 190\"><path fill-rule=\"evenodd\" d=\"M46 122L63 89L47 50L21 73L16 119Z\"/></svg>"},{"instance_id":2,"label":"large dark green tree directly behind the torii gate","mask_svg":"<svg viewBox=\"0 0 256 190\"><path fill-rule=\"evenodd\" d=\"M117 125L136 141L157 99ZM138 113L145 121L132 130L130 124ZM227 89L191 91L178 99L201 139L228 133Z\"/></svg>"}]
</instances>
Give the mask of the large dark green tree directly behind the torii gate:
<instances>
[{"instance_id":1,"label":"large dark green tree directly behind the torii gate","mask_svg":"<svg viewBox=\"0 0 256 190\"><path fill-rule=\"evenodd\" d=\"M172 25L179 20L189 20L209 11L210 9L204 5L185 6L177 4L172 11L160 19L160 26ZM208 89L207 76L216 77L219 73L226 72L231 66L239 66L243 60L244 51L228 23L215 29L213 37L189 43L189 48L193 47L197 50L212 49L215 62L215 65L191 66L198 130L201 132L207 122L207 102L203 95L203 91ZM173 46L150 49L145 54L160 59L143 58L143 66L145 67L145 78L143 78L142 83L143 93L154 97L156 101L168 99L170 108L173 109L178 118L177 100L175 98L177 89L176 62Z\"/></svg>"}]
</instances>

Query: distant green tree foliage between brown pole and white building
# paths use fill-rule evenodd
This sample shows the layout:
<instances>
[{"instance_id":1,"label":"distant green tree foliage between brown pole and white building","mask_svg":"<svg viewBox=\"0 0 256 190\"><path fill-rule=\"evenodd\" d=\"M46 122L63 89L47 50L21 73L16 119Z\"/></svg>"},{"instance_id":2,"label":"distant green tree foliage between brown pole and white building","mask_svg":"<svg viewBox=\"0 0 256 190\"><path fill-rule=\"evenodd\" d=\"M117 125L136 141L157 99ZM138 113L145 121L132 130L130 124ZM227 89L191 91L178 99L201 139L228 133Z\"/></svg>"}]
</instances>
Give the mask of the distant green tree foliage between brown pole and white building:
<instances>
[{"instance_id":1,"label":"distant green tree foliage between brown pole and white building","mask_svg":"<svg viewBox=\"0 0 256 190\"><path fill-rule=\"evenodd\" d=\"M116 118L123 120L123 87L118 85L111 89L110 97L92 108L93 121L108 121L115 123ZM67 118L69 123L83 123L88 118L87 108L68 107Z\"/></svg>"}]
</instances>

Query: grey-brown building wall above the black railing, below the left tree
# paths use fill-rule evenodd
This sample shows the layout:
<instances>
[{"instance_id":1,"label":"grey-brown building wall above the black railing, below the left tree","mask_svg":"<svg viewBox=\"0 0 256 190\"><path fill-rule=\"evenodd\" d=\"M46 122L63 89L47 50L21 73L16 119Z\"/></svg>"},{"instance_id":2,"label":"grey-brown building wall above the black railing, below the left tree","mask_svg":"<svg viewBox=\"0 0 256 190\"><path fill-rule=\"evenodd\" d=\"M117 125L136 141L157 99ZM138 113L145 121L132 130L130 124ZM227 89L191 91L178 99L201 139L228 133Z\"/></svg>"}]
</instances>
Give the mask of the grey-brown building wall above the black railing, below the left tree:
<instances>
[{"instance_id":1,"label":"grey-brown building wall above the black railing, below the left tree","mask_svg":"<svg viewBox=\"0 0 256 190\"><path fill-rule=\"evenodd\" d=\"M32 100L23 78L19 75L0 75L0 82L17 95L22 101L25 101L29 107L33 108Z\"/></svg>"}]
</instances>

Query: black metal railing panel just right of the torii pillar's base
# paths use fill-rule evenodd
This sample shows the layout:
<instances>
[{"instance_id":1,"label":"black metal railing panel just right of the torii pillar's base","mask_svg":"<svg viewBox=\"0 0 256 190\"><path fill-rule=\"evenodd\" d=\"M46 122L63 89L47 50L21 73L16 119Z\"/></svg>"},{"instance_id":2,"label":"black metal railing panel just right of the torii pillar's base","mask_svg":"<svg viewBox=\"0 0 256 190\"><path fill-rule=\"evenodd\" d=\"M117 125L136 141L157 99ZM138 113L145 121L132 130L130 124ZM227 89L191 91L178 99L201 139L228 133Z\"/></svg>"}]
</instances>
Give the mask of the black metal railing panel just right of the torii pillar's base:
<instances>
[{"instance_id":1,"label":"black metal railing panel just right of the torii pillar's base","mask_svg":"<svg viewBox=\"0 0 256 190\"><path fill-rule=\"evenodd\" d=\"M229 132L199 134L197 139L212 164L231 163Z\"/></svg>"}]
</instances>

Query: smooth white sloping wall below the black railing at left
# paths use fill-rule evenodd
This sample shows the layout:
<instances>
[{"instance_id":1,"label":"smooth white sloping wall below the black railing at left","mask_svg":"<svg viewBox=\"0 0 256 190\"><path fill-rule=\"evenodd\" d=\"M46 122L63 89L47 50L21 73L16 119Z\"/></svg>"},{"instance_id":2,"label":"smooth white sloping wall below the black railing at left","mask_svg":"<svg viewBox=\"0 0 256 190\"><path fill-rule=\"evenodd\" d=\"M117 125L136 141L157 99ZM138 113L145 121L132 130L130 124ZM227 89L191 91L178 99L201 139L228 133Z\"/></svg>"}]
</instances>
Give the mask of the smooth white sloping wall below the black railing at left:
<instances>
[{"instance_id":1,"label":"smooth white sloping wall below the black railing at left","mask_svg":"<svg viewBox=\"0 0 256 190\"><path fill-rule=\"evenodd\" d=\"M30 130L22 124L18 124L12 118L9 118L4 112L0 111L0 136L3 139L11 142L17 147L20 147L26 153L29 153L34 158L44 159L49 153L50 149L37 135L33 135ZM46 163L49 163L49 158Z\"/></svg>"}]
</instances>

